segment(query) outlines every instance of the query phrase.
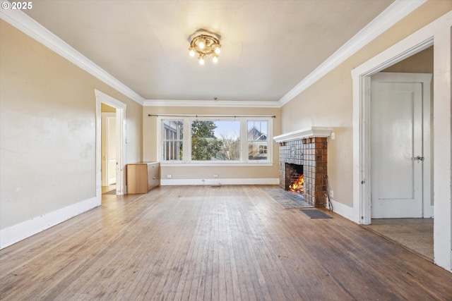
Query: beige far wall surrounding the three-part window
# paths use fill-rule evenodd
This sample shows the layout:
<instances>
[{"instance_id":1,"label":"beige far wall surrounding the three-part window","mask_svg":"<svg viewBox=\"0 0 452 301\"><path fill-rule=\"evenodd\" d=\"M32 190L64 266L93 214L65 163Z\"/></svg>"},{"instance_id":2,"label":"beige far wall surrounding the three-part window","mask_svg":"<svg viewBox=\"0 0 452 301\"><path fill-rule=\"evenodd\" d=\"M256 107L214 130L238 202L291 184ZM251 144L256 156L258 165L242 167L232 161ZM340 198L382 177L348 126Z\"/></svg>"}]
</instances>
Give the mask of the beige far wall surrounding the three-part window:
<instances>
[{"instance_id":1,"label":"beige far wall surrounding the three-part window","mask_svg":"<svg viewBox=\"0 0 452 301\"><path fill-rule=\"evenodd\" d=\"M143 109L143 160L161 161L157 158L157 118L148 114L195 114L195 115L271 115L273 119L273 135L280 135L280 109L270 108L217 108L217 107L155 107L145 106ZM213 175L221 178L279 178L278 145L273 142L273 166L162 166L160 174L178 178L192 178L196 175Z\"/></svg>"}]
</instances>

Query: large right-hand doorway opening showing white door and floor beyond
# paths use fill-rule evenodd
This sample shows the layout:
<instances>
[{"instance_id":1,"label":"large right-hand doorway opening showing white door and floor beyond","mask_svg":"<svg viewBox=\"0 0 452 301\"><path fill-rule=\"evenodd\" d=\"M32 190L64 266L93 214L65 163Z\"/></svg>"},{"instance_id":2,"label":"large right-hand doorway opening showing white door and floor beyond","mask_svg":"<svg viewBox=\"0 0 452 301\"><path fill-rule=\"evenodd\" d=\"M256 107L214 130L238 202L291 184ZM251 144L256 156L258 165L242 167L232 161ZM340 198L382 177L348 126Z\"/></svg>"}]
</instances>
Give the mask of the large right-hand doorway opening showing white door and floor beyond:
<instances>
[{"instance_id":1,"label":"large right-hand doorway opening showing white door and floor beyond","mask_svg":"<svg viewBox=\"0 0 452 301\"><path fill-rule=\"evenodd\" d=\"M371 76L369 225L432 261L433 59L429 47Z\"/></svg>"}]
</instances>

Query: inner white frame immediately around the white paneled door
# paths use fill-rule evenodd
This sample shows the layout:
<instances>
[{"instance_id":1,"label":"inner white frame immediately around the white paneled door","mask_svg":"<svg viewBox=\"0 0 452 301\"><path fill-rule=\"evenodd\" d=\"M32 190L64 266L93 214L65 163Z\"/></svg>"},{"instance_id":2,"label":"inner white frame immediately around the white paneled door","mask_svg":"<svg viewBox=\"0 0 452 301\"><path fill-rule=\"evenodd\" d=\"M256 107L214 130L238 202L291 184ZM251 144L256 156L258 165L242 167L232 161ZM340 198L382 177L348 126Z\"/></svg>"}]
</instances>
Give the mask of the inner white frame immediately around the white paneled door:
<instances>
[{"instance_id":1,"label":"inner white frame immediately around the white paneled door","mask_svg":"<svg viewBox=\"0 0 452 301\"><path fill-rule=\"evenodd\" d=\"M392 73L392 72L379 72L375 73L374 75L379 75L379 77L383 79L379 79L379 82L420 82L422 84L422 156L424 156L424 161L422 162L422 217L424 218L430 218L433 217L433 209L432 206L432 190L431 190L431 180L432 180L432 174L431 174L431 164L432 164L432 156L431 156L431 140L430 140L430 133L431 133L431 118L430 118L430 84L432 82L432 73ZM370 85L371 81L370 80ZM370 101L371 97L369 97ZM371 126L371 106L370 104L366 106L366 110L369 110L369 112L364 112L364 114L369 115L369 123L364 125L364 127L368 126L368 132L371 132L370 126ZM367 130L367 129L366 129ZM369 145L371 144L371 135L369 134L368 137L363 137L363 139L369 139ZM369 177L367 178L367 181L365 185L369 185L369 190L371 191L371 147L369 147L369 162L365 162L365 167L368 169ZM426 202L426 201L429 202ZM369 207L369 210L371 210L371 197L369 196L369 202L370 204L366 204L366 207ZM371 218L371 216L370 216Z\"/></svg>"}]
</instances>

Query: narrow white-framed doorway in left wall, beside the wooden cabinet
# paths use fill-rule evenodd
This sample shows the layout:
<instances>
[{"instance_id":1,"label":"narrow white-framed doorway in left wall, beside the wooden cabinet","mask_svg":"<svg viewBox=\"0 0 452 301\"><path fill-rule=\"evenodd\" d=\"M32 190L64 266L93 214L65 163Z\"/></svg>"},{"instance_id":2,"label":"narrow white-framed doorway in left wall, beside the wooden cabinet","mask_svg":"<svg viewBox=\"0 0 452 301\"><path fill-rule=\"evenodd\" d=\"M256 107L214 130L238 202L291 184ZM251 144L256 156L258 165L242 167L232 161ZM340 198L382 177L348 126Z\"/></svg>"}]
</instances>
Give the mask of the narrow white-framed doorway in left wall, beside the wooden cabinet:
<instances>
[{"instance_id":1,"label":"narrow white-framed doorway in left wall, beside the wooden cabinet","mask_svg":"<svg viewBox=\"0 0 452 301\"><path fill-rule=\"evenodd\" d=\"M95 95L97 108L96 195L101 201L102 186L107 187L105 190L112 191L109 190L109 185L112 185L113 182L115 183L114 194L124 195L126 104L119 102L117 99L114 99L99 90L95 90ZM105 118L102 118L102 105L105 111L103 113ZM105 125L104 135L102 135L102 123ZM108 140L110 140L110 143ZM102 142L104 142L104 151L106 151L107 147L111 150L110 156L102 154ZM102 155L105 155L105 158L102 159Z\"/></svg>"}]
</instances>

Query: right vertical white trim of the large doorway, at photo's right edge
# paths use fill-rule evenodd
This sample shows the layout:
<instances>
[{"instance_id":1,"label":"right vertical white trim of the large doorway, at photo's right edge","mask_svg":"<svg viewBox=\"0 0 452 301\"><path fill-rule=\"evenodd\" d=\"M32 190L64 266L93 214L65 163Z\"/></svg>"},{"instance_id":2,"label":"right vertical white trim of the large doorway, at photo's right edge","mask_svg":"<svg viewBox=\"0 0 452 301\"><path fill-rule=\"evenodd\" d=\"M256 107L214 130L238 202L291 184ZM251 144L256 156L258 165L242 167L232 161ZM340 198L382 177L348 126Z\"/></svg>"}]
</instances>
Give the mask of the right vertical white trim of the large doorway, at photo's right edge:
<instances>
[{"instance_id":1,"label":"right vertical white trim of the large doorway, at photo's right edge","mask_svg":"<svg viewBox=\"0 0 452 301\"><path fill-rule=\"evenodd\" d=\"M434 261L452 271L452 11L434 32Z\"/></svg>"}]
</instances>

